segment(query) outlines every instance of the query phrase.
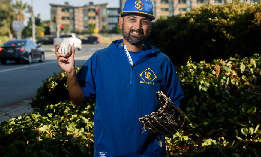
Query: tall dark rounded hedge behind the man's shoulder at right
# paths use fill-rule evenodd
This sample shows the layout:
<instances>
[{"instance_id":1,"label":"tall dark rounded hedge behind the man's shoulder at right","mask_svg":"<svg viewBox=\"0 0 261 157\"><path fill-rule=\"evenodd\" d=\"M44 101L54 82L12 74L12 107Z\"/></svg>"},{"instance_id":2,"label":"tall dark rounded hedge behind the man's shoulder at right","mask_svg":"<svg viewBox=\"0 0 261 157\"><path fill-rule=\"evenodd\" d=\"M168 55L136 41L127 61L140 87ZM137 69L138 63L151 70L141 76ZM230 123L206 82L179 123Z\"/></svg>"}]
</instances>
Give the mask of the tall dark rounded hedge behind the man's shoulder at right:
<instances>
[{"instance_id":1,"label":"tall dark rounded hedge behind the man's shoulder at right","mask_svg":"<svg viewBox=\"0 0 261 157\"><path fill-rule=\"evenodd\" d=\"M148 41L175 65L261 53L261 4L204 5L186 14L157 20Z\"/></svg>"}]
</instances>

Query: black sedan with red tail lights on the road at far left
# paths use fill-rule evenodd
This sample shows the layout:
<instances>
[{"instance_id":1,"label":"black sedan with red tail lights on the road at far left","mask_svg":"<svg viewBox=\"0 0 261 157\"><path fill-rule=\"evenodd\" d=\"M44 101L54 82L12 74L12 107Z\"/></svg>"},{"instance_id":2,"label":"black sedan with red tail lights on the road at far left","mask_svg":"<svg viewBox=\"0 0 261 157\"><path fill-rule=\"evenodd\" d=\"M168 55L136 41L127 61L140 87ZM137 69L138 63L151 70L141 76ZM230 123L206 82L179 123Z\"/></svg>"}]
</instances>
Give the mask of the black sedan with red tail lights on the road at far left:
<instances>
[{"instance_id":1,"label":"black sedan with red tail lights on the road at far left","mask_svg":"<svg viewBox=\"0 0 261 157\"><path fill-rule=\"evenodd\" d=\"M21 39L9 40L0 47L0 61L5 64L7 60L25 60L28 64L33 60L44 61L44 50L37 43Z\"/></svg>"}]
</instances>

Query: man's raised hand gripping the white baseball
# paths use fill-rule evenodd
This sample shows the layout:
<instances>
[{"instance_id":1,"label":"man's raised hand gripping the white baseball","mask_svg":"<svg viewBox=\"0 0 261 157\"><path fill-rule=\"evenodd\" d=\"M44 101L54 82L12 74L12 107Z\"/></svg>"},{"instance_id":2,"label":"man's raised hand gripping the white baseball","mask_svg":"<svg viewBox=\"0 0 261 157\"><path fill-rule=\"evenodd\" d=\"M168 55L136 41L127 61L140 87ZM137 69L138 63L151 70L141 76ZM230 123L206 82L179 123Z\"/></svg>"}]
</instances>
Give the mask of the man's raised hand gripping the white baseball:
<instances>
[{"instance_id":1,"label":"man's raised hand gripping the white baseball","mask_svg":"<svg viewBox=\"0 0 261 157\"><path fill-rule=\"evenodd\" d=\"M65 54L59 53L58 49L60 48L60 44L55 47L55 54L57 57L57 63L61 67L61 69L66 72L66 74L69 74L72 72L72 70L75 69L74 66L74 45L72 45L72 53L70 56L65 57Z\"/></svg>"}]
</instances>

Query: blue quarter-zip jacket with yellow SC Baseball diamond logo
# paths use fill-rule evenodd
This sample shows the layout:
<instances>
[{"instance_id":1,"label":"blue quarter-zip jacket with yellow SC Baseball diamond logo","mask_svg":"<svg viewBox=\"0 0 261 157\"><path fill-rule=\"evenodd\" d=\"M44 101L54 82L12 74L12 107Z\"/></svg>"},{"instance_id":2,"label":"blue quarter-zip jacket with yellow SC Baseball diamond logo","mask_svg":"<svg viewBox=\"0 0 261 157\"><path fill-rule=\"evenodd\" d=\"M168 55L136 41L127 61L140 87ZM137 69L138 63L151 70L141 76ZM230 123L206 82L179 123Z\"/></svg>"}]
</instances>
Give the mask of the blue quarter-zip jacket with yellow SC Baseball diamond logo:
<instances>
[{"instance_id":1,"label":"blue quarter-zip jacket with yellow SC Baseball diamond logo","mask_svg":"<svg viewBox=\"0 0 261 157\"><path fill-rule=\"evenodd\" d=\"M166 156L164 135L145 131L139 117L158 111L156 91L180 106L184 97L171 60L148 42L149 49L131 66L113 41L95 52L77 73L85 102L96 95L94 156Z\"/></svg>"}]
</instances>

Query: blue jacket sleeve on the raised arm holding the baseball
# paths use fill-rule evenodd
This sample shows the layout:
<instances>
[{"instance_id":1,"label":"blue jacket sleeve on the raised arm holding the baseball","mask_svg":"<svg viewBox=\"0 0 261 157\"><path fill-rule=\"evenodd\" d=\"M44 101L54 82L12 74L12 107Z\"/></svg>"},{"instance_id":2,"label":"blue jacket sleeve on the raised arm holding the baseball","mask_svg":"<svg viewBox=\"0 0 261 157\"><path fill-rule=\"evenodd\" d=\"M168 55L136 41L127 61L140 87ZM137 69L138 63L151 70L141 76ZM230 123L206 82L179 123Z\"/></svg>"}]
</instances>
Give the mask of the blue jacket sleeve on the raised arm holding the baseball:
<instances>
[{"instance_id":1,"label":"blue jacket sleeve on the raised arm holding the baseball","mask_svg":"<svg viewBox=\"0 0 261 157\"><path fill-rule=\"evenodd\" d=\"M89 99L95 97L96 94L95 76L97 64L95 56L96 55L93 54L77 73L78 82L82 86L82 91L85 96L84 104Z\"/></svg>"}]
</instances>

